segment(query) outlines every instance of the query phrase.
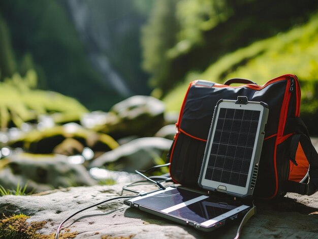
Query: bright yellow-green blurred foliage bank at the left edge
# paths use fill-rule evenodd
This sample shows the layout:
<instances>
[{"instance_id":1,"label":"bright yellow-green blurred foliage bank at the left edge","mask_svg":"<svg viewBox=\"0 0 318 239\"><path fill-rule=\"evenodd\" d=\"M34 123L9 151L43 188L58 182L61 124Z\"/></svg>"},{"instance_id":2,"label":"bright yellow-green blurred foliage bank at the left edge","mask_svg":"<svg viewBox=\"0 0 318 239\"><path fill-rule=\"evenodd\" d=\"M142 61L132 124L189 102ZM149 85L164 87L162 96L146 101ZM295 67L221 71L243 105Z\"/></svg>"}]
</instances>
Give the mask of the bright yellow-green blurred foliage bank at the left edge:
<instances>
[{"instance_id":1,"label":"bright yellow-green blurred foliage bank at the left edge","mask_svg":"<svg viewBox=\"0 0 318 239\"><path fill-rule=\"evenodd\" d=\"M29 70L25 77L14 74L0 82L0 126L2 129L37 121L39 115L53 114L56 122L62 118L78 120L87 112L77 100L62 94L31 89L37 84L37 74Z\"/></svg>"}]
</instances>

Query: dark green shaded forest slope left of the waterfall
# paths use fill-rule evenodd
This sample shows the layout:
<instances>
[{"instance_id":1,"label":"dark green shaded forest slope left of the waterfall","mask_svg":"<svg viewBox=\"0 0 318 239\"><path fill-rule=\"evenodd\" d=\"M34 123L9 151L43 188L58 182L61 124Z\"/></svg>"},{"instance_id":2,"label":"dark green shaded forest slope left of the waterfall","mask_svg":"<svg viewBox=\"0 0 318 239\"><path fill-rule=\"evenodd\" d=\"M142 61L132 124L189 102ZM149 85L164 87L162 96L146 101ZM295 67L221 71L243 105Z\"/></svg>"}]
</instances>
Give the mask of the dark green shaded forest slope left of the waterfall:
<instances>
[{"instance_id":1,"label":"dark green shaded forest slope left of the waterfall","mask_svg":"<svg viewBox=\"0 0 318 239\"><path fill-rule=\"evenodd\" d=\"M39 87L75 97L91 110L109 109L122 99L86 59L63 1L4 0L0 14L6 20L0 19L2 79L34 69Z\"/></svg>"}]
</instances>

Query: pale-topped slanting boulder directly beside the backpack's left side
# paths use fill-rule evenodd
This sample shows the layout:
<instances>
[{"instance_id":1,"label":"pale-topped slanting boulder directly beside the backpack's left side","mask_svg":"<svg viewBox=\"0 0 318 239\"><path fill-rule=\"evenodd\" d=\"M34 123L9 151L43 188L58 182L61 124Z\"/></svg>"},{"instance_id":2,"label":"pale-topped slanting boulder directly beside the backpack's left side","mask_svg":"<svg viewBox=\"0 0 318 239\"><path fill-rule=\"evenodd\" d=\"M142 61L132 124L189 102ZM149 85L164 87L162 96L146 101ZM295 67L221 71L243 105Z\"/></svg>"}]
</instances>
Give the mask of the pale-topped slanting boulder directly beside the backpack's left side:
<instances>
[{"instance_id":1,"label":"pale-topped slanting boulder directly beside the backpack's left side","mask_svg":"<svg viewBox=\"0 0 318 239\"><path fill-rule=\"evenodd\" d=\"M158 163L165 163L171 144L171 140L164 138L140 138L104 153L89 166L135 172L135 169L146 169ZM161 159L160 162L158 159Z\"/></svg>"}]
</instances>

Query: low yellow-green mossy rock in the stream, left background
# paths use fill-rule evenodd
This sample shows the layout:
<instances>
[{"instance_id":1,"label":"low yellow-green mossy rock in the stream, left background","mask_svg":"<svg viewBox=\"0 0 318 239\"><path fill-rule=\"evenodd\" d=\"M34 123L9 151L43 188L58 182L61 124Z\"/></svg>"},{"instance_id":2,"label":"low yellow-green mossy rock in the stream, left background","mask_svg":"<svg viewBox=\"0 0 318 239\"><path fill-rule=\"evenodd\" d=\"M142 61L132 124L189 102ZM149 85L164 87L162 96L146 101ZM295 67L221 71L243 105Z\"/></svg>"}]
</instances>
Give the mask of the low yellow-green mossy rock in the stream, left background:
<instances>
[{"instance_id":1,"label":"low yellow-green mossy rock in the stream, left background","mask_svg":"<svg viewBox=\"0 0 318 239\"><path fill-rule=\"evenodd\" d=\"M21 147L27 152L35 154L74 155L81 153L85 147L89 147L94 152L107 152L118 147L118 143L107 134L69 123L43 131L30 131L21 139L10 142L9 146Z\"/></svg>"}]
</instances>

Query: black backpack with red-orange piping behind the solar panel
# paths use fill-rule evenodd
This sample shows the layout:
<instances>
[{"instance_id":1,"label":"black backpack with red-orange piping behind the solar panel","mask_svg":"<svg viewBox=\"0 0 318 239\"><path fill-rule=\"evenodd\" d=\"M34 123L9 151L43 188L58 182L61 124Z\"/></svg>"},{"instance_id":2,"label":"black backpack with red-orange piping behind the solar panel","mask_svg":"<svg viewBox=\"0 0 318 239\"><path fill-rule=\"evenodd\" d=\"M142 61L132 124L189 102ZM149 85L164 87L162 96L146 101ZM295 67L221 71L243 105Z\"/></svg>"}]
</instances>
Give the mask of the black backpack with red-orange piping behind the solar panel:
<instances>
[{"instance_id":1,"label":"black backpack with red-orange piping behind the solar panel","mask_svg":"<svg viewBox=\"0 0 318 239\"><path fill-rule=\"evenodd\" d=\"M244 85L231 86L232 83ZM247 96L269 106L268 121L253 196L271 199L287 192L311 195L318 188L318 154L300 119L300 86L295 75L283 75L264 85L246 79L225 84L197 80L189 84L176 123L168 157L175 183L199 188L198 179L219 99Z\"/></svg>"}]
</instances>

